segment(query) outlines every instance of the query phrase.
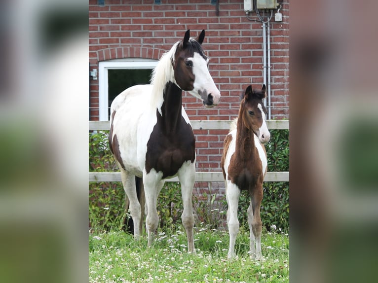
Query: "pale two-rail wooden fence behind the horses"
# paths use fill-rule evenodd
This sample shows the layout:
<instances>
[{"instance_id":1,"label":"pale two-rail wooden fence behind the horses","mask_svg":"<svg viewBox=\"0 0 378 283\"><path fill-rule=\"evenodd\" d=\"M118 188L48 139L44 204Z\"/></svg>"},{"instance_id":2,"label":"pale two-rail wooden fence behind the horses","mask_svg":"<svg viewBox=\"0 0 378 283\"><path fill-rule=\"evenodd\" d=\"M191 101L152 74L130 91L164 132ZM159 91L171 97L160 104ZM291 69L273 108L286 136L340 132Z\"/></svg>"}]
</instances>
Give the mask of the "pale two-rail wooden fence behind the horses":
<instances>
[{"instance_id":1,"label":"pale two-rail wooden fence behind the horses","mask_svg":"<svg viewBox=\"0 0 378 283\"><path fill-rule=\"evenodd\" d=\"M190 121L193 130L228 130L229 120L193 120ZM289 120L267 120L269 130L289 130ZM89 121L89 131L109 131L109 121ZM90 182L120 182L119 172L89 172ZM178 177L165 179L167 182L177 182ZM221 182L224 181L222 172L196 172L196 182ZM288 182L289 172L267 172L264 178L266 182Z\"/></svg>"}]
</instances>

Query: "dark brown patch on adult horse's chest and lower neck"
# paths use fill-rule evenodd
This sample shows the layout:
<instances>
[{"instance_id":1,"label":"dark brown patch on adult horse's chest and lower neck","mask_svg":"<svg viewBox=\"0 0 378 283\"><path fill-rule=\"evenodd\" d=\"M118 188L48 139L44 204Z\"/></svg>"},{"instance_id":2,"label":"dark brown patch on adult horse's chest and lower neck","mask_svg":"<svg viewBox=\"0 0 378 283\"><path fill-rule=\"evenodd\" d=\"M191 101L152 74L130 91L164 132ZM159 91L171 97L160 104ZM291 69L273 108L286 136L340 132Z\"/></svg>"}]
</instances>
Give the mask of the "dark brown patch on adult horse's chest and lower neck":
<instances>
[{"instance_id":1,"label":"dark brown patch on adult horse's chest and lower neck","mask_svg":"<svg viewBox=\"0 0 378 283\"><path fill-rule=\"evenodd\" d=\"M191 126L181 113L182 90L173 82L166 85L161 113L156 109L157 121L147 143L146 172L162 172L163 177L177 174L184 162L194 162L195 139Z\"/></svg>"}]
</instances>

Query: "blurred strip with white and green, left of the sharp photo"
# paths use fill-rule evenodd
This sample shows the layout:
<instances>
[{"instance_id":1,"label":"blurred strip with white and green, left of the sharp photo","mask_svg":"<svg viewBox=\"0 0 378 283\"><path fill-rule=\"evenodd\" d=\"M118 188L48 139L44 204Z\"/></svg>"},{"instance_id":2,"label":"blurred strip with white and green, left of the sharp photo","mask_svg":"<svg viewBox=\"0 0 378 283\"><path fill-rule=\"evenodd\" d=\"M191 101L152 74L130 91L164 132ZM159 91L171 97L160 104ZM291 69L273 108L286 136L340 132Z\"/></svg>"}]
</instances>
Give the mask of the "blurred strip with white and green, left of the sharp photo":
<instances>
[{"instance_id":1,"label":"blurred strip with white and green, left of the sharp photo","mask_svg":"<svg viewBox=\"0 0 378 283\"><path fill-rule=\"evenodd\" d=\"M0 21L0 281L87 282L88 3Z\"/></svg>"}]
</instances>

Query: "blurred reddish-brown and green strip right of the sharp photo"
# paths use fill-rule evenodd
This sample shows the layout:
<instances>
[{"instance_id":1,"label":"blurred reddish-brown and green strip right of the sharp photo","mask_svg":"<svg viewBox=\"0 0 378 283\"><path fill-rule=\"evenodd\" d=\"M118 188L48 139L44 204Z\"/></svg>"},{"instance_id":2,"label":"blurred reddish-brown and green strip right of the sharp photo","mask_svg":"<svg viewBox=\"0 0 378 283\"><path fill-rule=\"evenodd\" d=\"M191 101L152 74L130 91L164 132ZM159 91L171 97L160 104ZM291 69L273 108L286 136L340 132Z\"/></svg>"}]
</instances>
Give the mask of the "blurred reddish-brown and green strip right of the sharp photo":
<instances>
[{"instance_id":1,"label":"blurred reddish-brown and green strip right of the sharp photo","mask_svg":"<svg viewBox=\"0 0 378 283\"><path fill-rule=\"evenodd\" d=\"M290 280L375 282L378 5L290 6Z\"/></svg>"}]
</instances>

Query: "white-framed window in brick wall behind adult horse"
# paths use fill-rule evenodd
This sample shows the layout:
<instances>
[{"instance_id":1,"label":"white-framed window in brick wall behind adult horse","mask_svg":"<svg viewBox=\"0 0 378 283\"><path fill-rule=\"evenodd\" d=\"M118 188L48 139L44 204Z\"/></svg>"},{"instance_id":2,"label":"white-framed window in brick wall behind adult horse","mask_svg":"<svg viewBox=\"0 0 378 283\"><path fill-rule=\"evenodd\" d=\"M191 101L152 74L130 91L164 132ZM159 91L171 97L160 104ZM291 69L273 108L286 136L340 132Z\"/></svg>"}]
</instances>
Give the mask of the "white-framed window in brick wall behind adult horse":
<instances>
[{"instance_id":1,"label":"white-framed window in brick wall behind adult horse","mask_svg":"<svg viewBox=\"0 0 378 283\"><path fill-rule=\"evenodd\" d=\"M113 99L126 88L148 84L158 60L115 59L99 63L99 119L109 121Z\"/></svg>"}]
</instances>

